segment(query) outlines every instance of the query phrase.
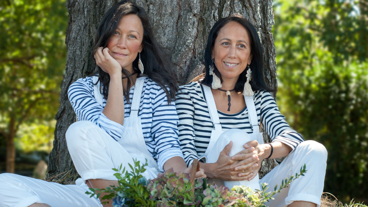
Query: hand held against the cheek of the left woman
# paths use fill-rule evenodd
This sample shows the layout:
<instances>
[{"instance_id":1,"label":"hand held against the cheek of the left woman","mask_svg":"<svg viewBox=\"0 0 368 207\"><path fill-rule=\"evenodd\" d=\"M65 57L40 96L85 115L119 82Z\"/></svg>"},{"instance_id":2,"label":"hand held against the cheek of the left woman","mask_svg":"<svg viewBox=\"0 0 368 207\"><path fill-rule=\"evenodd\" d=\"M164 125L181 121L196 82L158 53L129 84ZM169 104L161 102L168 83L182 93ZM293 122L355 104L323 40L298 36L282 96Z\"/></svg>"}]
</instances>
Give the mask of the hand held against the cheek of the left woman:
<instances>
[{"instance_id":1,"label":"hand held against the cheek of the left woman","mask_svg":"<svg viewBox=\"0 0 368 207\"><path fill-rule=\"evenodd\" d=\"M112 77L113 75L120 74L121 77L121 66L110 54L109 48L99 47L93 56L96 60L96 64L106 73Z\"/></svg>"}]
</instances>

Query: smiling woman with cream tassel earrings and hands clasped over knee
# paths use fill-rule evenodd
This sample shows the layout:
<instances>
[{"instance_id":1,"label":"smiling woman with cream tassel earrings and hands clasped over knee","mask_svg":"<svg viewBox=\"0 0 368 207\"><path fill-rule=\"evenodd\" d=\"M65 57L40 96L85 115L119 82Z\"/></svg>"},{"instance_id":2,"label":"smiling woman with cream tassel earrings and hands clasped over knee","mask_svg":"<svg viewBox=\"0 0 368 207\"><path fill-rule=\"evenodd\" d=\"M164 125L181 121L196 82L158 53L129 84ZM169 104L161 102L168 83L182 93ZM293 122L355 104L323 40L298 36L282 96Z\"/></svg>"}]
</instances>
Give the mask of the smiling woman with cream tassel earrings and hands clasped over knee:
<instances>
[{"instance_id":1,"label":"smiling woman with cream tassel earrings and hands clasped over knee","mask_svg":"<svg viewBox=\"0 0 368 207\"><path fill-rule=\"evenodd\" d=\"M238 14L222 18L209 32L206 73L179 87L176 110L185 162L198 159L208 178L231 188L270 190L306 164L308 172L276 194L268 206L319 206L327 151L304 141L280 113L263 79L262 45L255 27ZM272 139L263 143L261 126ZM263 159L284 158L261 180ZM290 189L290 190L289 190Z\"/></svg>"}]
</instances>

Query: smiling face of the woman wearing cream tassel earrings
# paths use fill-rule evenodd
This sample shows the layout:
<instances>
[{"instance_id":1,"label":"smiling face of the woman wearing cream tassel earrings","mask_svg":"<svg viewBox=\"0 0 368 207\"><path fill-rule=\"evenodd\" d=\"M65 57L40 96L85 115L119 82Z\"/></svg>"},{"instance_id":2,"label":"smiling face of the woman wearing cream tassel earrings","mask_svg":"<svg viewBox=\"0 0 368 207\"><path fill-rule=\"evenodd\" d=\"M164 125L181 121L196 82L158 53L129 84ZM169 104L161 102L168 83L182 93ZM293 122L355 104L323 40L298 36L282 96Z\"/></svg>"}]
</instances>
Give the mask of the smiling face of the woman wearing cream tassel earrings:
<instances>
[{"instance_id":1,"label":"smiling face of the woman wearing cream tassel earrings","mask_svg":"<svg viewBox=\"0 0 368 207\"><path fill-rule=\"evenodd\" d=\"M212 59L223 81L236 82L252 60L248 31L238 22L225 24L215 40Z\"/></svg>"}]
</instances>

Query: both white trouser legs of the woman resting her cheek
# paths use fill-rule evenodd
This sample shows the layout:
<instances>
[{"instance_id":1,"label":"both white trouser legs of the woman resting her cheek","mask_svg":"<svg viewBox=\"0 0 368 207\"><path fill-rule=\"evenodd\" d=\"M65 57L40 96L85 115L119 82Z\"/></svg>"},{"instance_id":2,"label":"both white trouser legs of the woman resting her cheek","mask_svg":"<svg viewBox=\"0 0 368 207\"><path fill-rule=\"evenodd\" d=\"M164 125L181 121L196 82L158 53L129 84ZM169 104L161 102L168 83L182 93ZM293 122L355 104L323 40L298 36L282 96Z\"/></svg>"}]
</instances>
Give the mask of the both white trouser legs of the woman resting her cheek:
<instances>
[{"instance_id":1,"label":"both white trouser legs of the woman resting her cheek","mask_svg":"<svg viewBox=\"0 0 368 207\"><path fill-rule=\"evenodd\" d=\"M50 206L102 206L85 184L88 179L117 180L112 168L130 169L128 152L104 130L89 121L70 125L66 133L68 150L79 175L76 185L61 185L11 173L0 174L0 206L29 206L46 203ZM147 179L155 178L144 172Z\"/></svg>"}]
</instances>

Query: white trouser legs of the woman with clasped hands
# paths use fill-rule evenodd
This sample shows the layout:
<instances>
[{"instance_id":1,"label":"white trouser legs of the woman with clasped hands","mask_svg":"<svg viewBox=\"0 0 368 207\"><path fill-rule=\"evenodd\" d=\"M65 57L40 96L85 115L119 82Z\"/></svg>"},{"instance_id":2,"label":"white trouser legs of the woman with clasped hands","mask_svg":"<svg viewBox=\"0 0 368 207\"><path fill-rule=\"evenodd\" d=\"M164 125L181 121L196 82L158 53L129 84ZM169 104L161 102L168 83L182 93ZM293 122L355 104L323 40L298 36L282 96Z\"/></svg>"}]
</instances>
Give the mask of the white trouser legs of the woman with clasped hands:
<instances>
[{"instance_id":1,"label":"white trouser legs of the woman with clasped hands","mask_svg":"<svg viewBox=\"0 0 368 207\"><path fill-rule=\"evenodd\" d=\"M227 130L227 134L232 131ZM234 130L235 131L235 130ZM224 132L224 133L225 133ZM243 137L248 137L246 132L244 132ZM237 136L220 136L217 140L215 147L210 152L207 162L211 163L213 160L217 160L219 153L223 150L226 144L233 141L233 148L231 148L229 155L234 155L237 152L244 149L243 145L249 140L239 138L238 131L236 131ZM216 155L215 157L213 157ZM211 157L210 157L211 156ZM279 165L277 165L272 171L265 175L259 180L259 183L268 183L268 192L272 192L277 184L277 189L281 185L281 182L285 178L290 178L291 175L300 173L300 167L304 164L306 165L307 172L304 173L305 176L300 176L300 178L294 180L290 183L290 186L284 188L280 193L273 196L275 199L270 200L266 203L266 206L272 207L282 207L287 206L294 201L308 201L321 205L321 196L325 181L326 174L326 162L327 162L327 150L326 148L313 140L304 141L295 148ZM225 185L228 181L224 181ZM218 180L216 180L216 184ZM243 181L232 181L233 185L253 185L252 180Z\"/></svg>"}]
</instances>

